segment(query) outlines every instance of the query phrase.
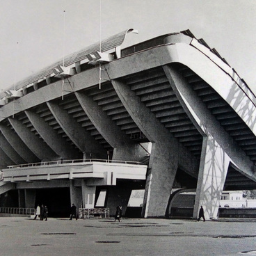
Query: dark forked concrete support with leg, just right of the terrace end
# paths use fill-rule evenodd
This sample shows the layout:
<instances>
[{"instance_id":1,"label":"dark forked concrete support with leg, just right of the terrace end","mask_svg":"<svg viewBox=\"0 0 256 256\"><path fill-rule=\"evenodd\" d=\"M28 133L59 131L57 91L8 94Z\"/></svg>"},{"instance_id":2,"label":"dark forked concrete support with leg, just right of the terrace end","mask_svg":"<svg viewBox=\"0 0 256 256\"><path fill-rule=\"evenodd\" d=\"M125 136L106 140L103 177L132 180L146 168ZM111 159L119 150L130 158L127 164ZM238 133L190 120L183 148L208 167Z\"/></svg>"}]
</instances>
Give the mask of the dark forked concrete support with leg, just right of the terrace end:
<instances>
[{"instance_id":1,"label":"dark forked concrete support with leg, just right of the terrace end","mask_svg":"<svg viewBox=\"0 0 256 256\"><path fill-rule=\"evenodd\" d=\"M179 163L185 163L196 172L196 161L129 86L120 80L112 80L112 84L131 118L153 143L145 187L144 217L164 216Z\"/></svg>"}]
</instances>

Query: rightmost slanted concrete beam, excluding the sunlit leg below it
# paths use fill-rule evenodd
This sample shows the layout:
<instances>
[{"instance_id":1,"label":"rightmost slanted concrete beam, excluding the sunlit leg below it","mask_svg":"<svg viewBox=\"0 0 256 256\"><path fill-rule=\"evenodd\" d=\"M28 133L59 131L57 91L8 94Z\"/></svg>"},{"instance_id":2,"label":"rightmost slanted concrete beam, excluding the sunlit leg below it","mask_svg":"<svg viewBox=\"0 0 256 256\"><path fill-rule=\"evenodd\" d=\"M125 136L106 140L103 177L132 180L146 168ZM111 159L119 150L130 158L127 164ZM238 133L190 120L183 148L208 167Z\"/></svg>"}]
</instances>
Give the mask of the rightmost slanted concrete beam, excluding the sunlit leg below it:
<instances>
[{"instance_id":1,"label":"rightmost slanted concrete beam, excluding the sunlit leg below it","mask_svg":"<svg viewBox=\"0 0 256 256\"><path fill-rule=\"evenodd\" d=\"M175 90L175 94L179 98L179 102L181 102L186 113L191 116L193 123L205 132L205 136L211 135L219 145L229 145L225 152L230 157L230 161L241 170L241 173L256 181L253 162L250 161L245 152L238 147L227 131L211 115L211 112L200 101L191 87L188 86L185 79L171 66L163 67L163 69L173 90Z\"/></svg>"}]
</instances>

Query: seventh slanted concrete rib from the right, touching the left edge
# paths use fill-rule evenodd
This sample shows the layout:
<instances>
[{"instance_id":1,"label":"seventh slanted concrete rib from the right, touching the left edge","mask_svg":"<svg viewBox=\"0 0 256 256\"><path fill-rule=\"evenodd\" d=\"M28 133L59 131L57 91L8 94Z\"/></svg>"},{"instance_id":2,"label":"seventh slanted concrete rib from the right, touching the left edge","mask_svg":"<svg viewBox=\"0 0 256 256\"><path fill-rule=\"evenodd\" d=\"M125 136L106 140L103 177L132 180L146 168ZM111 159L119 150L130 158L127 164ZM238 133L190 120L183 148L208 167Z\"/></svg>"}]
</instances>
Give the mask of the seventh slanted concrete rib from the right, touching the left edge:
<instances>
[{"instance_id":1,"label":"seventh slanted concrete rib from the right, touching the left edge","mask_svg":"<svg viewBox=\"0 0 256 256\"><path fill-rule=\"evenodd\" d=\"M15 132L13 132L10 127L6 127L5 125L0 125L0 131L3 136L6 137L6 140L10 145L15 149L15 151L19 154L24 161L27 163L35 163L39 161L38 157L35 157L35 154L31 152L29 147L25 145L25 143L17 136Z\"/></svg>"}]
</instances>

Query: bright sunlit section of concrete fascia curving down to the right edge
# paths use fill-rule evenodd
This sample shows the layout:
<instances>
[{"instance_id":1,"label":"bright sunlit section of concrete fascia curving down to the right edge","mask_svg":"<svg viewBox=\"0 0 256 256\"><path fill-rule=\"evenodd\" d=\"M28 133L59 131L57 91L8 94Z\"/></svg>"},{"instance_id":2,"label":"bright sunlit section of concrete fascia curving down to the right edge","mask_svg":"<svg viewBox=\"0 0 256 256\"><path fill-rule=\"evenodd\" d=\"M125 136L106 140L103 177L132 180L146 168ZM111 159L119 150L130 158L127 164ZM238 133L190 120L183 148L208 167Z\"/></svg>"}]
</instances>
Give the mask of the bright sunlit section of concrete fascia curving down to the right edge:
<instances>
[{"instance_id":1,"label":"bright sunlit section of concrete fascia curving down to the right edge","mask_svg":"<svg viewBox=\"0 0 256 256\"><path fill-rule=\"evenodd\" d=\"M215 62L202 54L198 49L186 44L176 44L167 48L169 54L175 51L175 58L171 63L182 63L189 67L207 82L232 109L243 119L253 134L256 136L256 105L255 97L251 99L241 86L239 81L234 81L230 74L222 70ZM212 54L212 53L209 53ZM219 60L221 61L221 60ZM211 70L209 72L209 70ZM240 80L241 82L241 80Z\"/></svg>"}]
</instances>

